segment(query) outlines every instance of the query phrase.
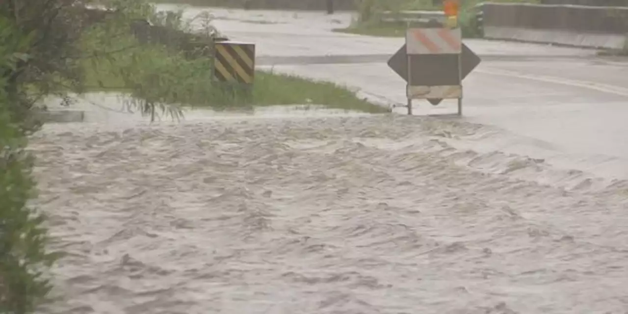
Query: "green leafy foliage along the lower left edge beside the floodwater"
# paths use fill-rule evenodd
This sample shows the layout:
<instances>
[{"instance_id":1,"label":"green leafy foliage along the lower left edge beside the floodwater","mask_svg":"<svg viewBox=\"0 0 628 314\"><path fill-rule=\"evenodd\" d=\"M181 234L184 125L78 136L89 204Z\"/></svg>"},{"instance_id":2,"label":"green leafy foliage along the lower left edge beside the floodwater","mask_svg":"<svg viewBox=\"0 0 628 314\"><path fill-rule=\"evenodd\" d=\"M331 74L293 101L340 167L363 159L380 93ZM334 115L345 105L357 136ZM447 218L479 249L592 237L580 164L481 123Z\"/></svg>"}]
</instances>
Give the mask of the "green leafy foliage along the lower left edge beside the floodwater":
<instances>
[{"instance_id":1,"label":"green leafy foliage along the lower left edge beside the floodwater","mask_svg":"<svg viewBox=\"0 0 628 314\"><path fill-rule=\"evenodd\" d=\"M3 65L16 68L24 56L1 47ZM0 313L23 314L46 301L51 289L46 269L58 255L46 251L45 217L28 205L35 197L33 158L22 127L11 116L6 86L0 78Z\"/></svg>"}]
</instances>

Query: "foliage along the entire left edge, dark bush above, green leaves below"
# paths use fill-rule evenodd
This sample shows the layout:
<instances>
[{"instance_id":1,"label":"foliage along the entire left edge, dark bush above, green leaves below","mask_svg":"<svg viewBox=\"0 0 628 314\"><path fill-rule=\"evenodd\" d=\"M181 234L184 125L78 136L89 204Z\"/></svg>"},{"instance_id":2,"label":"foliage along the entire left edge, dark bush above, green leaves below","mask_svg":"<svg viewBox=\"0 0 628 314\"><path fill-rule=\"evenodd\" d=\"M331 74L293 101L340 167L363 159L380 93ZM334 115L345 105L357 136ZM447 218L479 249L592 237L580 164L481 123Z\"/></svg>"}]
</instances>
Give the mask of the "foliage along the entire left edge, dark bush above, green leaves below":
<instances>
[{"instance_id":1,"label":"foliage along the entire left edge, dark bush above, green leaves below","mask_svg":"<svg viewBox=\"0 0 628 314\"><path fill-rule=\"evenodd\" d=\"M76 19L68 19L75 14ZM33 313L51 289L45 217L35 197L28 135L40 124L33 105L58 79L76 82L70 59L82 19L67 3L0 3L0 313Z\"/></svg>"}]
</instances>

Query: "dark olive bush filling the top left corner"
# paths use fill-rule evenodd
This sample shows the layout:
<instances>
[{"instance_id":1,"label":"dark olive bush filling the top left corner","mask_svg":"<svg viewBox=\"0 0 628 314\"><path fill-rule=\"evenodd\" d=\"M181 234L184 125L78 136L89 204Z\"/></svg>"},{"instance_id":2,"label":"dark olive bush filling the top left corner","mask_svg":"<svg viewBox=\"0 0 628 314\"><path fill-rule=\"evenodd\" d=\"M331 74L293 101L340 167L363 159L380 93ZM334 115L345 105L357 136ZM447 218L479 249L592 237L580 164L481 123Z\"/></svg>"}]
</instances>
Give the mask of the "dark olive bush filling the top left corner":
<instances>
[{"instance_id":1,"label":"dark olive bush filling the top left corner","mask_svg":"<svg viewBox=\"0 0 628 314\"><path fill-rule=\"evenodd\" d=\"M81 4L81 0L0 1L2 49L20 56L10 66L1 65L0 77L5 78L12 122L24 133L39 127L31 111L41 97L64 97L67 89L59 84L80 83L74 43L87 20Z\"/></svg>"}]
</instances>

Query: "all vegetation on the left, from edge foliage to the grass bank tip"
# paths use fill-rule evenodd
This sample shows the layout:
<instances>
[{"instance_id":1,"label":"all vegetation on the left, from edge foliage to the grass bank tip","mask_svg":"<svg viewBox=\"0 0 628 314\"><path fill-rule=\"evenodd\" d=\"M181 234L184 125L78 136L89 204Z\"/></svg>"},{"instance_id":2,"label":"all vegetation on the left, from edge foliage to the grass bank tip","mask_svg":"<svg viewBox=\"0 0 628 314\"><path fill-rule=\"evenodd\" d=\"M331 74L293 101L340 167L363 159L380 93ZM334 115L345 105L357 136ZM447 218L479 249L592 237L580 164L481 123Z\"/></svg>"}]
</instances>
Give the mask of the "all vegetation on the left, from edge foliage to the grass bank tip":
<instances>
[{"instance_id":1,"label":"all vegetation on the left, from edge foliage to the grass bank tip","mask_svg":"<svg viewBox=\"0 0 628 314\"><path fill-rule=\"evenodd\" d=\"M258 72L251 93L224 89L212 80L209 56L219 34L208 16L195 21L202 33L189 35L180 13L158 13L139 0L105 4L107 11L85 9L80 0L0 2L0 313L34 313L49 301L48 270L60 257L48 249L45 216L30 202L36 182L26 147L41 126L43 97L70 104L73 93L115 90L153 119L158 111L178 117L183 104L385 111L336 85L274 73ZM146 21L161 30L157 40L138 35Z\"/></svg>"}]
</instances>

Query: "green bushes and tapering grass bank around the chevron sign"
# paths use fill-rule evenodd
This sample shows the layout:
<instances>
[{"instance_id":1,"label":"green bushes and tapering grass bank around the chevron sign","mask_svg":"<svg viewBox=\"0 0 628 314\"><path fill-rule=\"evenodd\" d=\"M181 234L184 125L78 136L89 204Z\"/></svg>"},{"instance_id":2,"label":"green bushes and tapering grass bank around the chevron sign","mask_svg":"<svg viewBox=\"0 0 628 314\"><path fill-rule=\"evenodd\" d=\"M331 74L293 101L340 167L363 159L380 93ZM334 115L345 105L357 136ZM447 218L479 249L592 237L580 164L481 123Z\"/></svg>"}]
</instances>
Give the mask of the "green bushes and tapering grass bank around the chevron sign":
<instances>
[{"instance_id":1,"label":"green bushes and tapering grass bank around the chevron sign","mask_svg":"<svg viewBox=\"0 0 628 314\"><path fill-rule=\"evenodd\" d=\"M146 8L123 11L150 12ZM159 45L141 44L136 36L125 30L132 27L131 24L124 26L124 21L140 17L165 26L163 33L166 30L181 31L161 38ZM181 13L136 14L123 21L112 17L106 23L90 28L82 41L83 50L94 56L83 62L85 88L127 92L129 102L144 102L140 107L151 116L155 110L179 116L181 106L225 109L308 102L357 111L386 112L386 109L358 99L337 85L288 75L257 71L252 90L218 84L213 79L213 62L208 55L211 55L212 36L219 34L211 26L208 14L197 16L194 21L202 25L202 36L197 41L203 45L188 47L188 41L180 38L184 34L182 31L190 31L192 23L184 23ZM111 34L119 35L112 37ZM163 34L156 36L164 37ZM203 51L207 46L209 51Z\"/></svg>"}]
</instances>

